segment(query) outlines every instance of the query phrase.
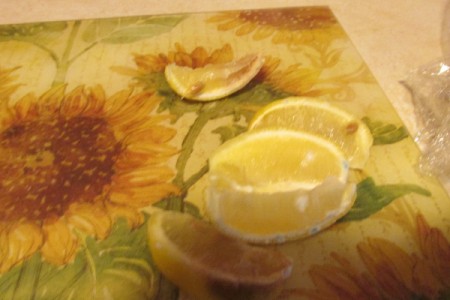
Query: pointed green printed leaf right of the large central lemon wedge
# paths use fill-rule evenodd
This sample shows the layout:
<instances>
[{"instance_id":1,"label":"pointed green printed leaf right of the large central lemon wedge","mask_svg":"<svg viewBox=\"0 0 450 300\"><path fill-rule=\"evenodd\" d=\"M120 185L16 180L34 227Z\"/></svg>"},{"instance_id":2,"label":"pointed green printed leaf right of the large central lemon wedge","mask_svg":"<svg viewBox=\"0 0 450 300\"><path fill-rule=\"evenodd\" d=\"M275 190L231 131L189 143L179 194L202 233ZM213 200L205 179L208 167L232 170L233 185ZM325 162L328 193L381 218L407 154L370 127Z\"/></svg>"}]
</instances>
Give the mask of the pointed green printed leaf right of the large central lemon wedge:
<instances>
[{"instance_id":1,"label":"pointed green printed leaf right of the large central lemon wedge","mask_svg":"<svg viewBox=\"0 0 450 300\"><path fill-rule=\"evenodd\" d=\"M339 221L355 221L365 219L389 205L397 198L410 193L431 196L431 193L415 184L376 185L371 177L358 183L356 201L350 211Z\"/></svg>"}]
</instances>

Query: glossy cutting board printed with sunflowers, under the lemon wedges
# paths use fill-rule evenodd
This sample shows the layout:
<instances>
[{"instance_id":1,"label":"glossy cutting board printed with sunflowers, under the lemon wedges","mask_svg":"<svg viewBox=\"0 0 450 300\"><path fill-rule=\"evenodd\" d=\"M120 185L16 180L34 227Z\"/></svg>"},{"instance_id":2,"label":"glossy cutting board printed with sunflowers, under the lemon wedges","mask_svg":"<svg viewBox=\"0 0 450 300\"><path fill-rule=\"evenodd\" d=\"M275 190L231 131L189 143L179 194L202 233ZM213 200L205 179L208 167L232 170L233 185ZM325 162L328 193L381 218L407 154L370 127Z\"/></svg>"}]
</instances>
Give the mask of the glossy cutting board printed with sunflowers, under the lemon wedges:
<instances>
[{"instance_id":1,"label":"glossy cutting board printed with sunflowers, under the lemon wedges","mask_svg":"<svg viewBox=\"0 0 450 300\"><path fill-rule=\"evenodd\" d=\"M450 199L326 7L0 26L1 299L173 299L146 242L148 207L202 214L207 158L291 95L362 118L375 145L351 211L279 246L281 299L450 296ZM251 84L187 102L168 63L261 53Z\"/></svg>"}]
</instances>

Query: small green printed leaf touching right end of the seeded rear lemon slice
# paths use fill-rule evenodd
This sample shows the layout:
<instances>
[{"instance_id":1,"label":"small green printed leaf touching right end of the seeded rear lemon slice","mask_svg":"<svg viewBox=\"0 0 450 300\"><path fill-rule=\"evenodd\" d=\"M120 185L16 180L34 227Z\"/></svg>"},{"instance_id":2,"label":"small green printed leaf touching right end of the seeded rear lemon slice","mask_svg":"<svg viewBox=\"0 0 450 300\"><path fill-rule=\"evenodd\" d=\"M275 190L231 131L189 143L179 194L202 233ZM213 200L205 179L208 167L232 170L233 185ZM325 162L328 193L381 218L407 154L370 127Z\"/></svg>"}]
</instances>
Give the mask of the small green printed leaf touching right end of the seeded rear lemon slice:
<instances>
[{"instance_id":1,"label":"small green printed leaf touching right end of the seeded rear lemon slice","mask_svg":"<svg viewBox=\"0 0 450 300\"><path fill-rule=\"evenodd\" d=\"M372 132L374 145L394 144L409 136L408 131L404 126L395 126L380 121L372 121L368 117L364 117L362 120Z\"/></svg>"}]
</instances>

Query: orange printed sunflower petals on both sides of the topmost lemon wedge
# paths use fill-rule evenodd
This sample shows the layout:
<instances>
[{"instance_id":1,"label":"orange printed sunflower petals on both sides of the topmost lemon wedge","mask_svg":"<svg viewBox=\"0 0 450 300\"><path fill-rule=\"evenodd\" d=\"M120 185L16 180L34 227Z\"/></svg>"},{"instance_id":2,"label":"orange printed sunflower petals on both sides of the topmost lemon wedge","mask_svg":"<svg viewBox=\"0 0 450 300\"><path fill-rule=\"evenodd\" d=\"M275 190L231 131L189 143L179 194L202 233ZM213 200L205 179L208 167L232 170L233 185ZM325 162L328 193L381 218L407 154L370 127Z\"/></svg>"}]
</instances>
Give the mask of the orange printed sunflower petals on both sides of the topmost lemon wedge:
<instances>
[{"instance_id":1,"label":"orange printed sunflower petals on both sides of the topmost lemon wedge","mask_svg":"<svg viewBox=\"0 0 450 300\"><path fill-rule=\"evenodd\" d=\"M136 86L160 90L162 83L156 80L155 74L163 74L168 64L201 68L208 64L221 64L235 58L230 44L208 51L198 46L187 51L181 44L176 43L174 50L168 53L135 54L134 61L137 69L115 67L114 69L127 76L137 79ZM282 60L274 56L265 56L265 62L254 82L270 86L272 90L281 94L310 97L330 97L333 100L349 101L355 97L352 90L353 83L373 83L374 79L364 66L345 74L331 78L323 77L325 70L335 67L340 58L340 51L330 51L320 61L310 57L312 63L294 63L281 68ZM151 76L148 76L151 75Z\"/></svg>"}]
</instances>

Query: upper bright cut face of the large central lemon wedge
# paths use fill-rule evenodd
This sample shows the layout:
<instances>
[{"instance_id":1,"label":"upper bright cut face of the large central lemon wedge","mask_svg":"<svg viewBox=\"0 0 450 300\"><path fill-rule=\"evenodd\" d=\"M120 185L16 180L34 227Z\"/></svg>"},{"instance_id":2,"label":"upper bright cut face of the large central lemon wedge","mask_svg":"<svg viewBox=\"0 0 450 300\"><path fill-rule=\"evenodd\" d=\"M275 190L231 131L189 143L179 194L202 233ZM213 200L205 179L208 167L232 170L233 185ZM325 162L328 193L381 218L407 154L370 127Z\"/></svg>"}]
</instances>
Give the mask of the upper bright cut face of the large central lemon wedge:
<instances>
[{"instance_id":1,"label":"upper bright cut face of the large central lemon wedge","mask_svg":"<svg viewBox=\"0 0 450 300\"><path fill-rule=\"evenodd\" d=\"M212 173L257 192L313 188L330 176L345 182L342 152L320 137L293 130L243 133L220 146L209 159Z\"/></svg>"}]
</instances>

